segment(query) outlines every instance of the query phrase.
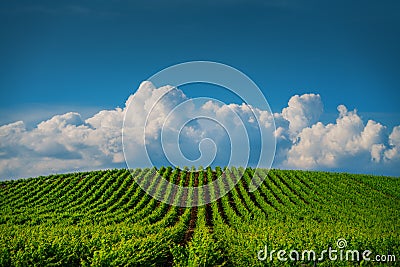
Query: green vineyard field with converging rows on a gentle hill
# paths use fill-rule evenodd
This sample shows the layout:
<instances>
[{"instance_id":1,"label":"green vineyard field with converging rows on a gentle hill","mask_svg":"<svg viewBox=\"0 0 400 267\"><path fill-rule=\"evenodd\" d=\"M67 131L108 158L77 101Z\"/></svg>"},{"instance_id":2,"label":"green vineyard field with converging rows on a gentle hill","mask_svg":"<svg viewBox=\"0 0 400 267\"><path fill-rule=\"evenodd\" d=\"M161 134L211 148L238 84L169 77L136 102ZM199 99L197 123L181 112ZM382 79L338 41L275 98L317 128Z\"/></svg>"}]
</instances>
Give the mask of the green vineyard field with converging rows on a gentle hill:
<instances>
[{"instance_id":1,"label":"green vineyard field with converging rows on a gentle hill","mask_svg":"<svg viewBox=\"0 0 400 267\"><path fill-rule=\"evenodd\" d=\"M0 183L0 266L354 266L376 261L280 261L270 250L337 248L394 255L400 265L400 179L346 173L224 170L238 183L212 203L167 205L135 182L158 172L181 186L201 186L223 170L171 167L58 174ZM242 178L241 178L242 177ZM241 179L240 179L241 178ZM154 180L156 181L156 180ZM169 187L147 185L166 197ZM222 182L210 191L217 194ZM210 198L176 195L190 204ZM263 255L263 253L261 253ZM268 255L269 256L269 255ZM288 257L286 255L286 257Z\"/></svg>"}]
</instances>

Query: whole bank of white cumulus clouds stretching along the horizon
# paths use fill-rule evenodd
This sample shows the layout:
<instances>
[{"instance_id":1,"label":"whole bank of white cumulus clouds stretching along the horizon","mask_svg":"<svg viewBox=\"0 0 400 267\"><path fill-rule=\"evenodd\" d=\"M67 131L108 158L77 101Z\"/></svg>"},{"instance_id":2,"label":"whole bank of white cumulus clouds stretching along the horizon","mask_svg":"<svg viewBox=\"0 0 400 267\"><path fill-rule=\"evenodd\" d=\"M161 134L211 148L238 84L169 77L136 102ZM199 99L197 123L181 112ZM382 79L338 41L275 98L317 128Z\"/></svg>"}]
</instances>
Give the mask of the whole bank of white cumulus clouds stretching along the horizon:
<instances>
[{"instance_id":1,"label":"whole bank of white cumulus clouds stretching along the horizon","mask_svg":"<svg viewBox=\"0 0 400 267\"><path fill-rule=\"evenodd\" d=\"M169 93L151 110L155 100L166 91ZM185 105L181 110L171 116L170 112L182 103ZM295 95L280 113L271 114L246 104L195 102L179 89L155 88L150 82L143 82L123 108L102 110L85 120L80 114L69 112L43 121L33 129L27 128L23 121L0 126L0 180L126 167L121 129L129 104L143 111L129 116L129 132L137 139L129 148L129 157L137 166L146 164L143 160L146 151L140 146L143 140L158 165L173 161L178 154L169 153L167 159L162 145L167 151L169 146L176 151L174 142L169 142L177 136L175 125L185 125L193 114L204 114L216 118L225 128L212 120L198 120L181 129L180 149L194 163L207 163L207 155L203 161L196 160L202 153L213 151L216 156L213 164L225 165L229 151L246 147L243 142L243 148L231 147L229 137L230 141L239 138L232 133L245 127L250 139L257 140L260 132L257 121L261 130L273 131L274 119L277 150L273 167L400 175L397 167L400 126L388 129L373 120L364 122L356 110L349 111L344 105L338 106L335 122L323 124L319 121L323 102L318 94ZM139 126L146 120L146 114L150 115L144 135ZM166 131L161 135L162 127ZM201 142L205 139L212 142ZM250 146L250 162L254 151L260 150L257 144L256 141Z\"/></svg>"}]
</instances>

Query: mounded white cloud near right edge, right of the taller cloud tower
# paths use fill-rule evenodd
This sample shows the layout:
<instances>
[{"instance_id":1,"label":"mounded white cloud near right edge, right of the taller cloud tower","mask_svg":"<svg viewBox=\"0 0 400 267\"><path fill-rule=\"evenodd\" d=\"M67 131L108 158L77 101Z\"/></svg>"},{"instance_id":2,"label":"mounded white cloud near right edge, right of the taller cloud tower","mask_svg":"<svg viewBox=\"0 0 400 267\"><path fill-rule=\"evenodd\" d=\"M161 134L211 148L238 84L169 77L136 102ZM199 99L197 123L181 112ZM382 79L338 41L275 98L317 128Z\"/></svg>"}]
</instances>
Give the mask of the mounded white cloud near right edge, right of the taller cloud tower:
<instances>
[{"instance_id":1,"label":"mounded white cloud near right edge, right of the taller cloud tower","mask_svg":"<svg viewBox=\"0 0 400 267\"><path fill-rule=\"evenodd\" d=\"M336 123L317 122L302 129L288 150L284 165L300 169L337 168L389 173L385 168L393 167L387 163L394 159L397 147L396 141L390 141L394 147L387 150L386 127L372 120L365 125L356 111L348 111L344 105L340 105L338 111ZM397 137L395 129L391 135L394 139Z\"/></svg>"}]
</instances>

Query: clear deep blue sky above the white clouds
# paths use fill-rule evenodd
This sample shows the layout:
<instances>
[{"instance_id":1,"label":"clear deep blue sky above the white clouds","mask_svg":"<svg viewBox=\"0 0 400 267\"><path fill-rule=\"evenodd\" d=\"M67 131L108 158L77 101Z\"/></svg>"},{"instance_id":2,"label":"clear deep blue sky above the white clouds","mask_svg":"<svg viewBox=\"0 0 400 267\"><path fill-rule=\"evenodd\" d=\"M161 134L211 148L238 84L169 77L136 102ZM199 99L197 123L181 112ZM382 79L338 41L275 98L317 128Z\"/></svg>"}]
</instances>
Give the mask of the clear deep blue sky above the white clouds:
<instances>
[{"instance_id":1,"label":"clear deep blue sky above the white clouds","mask_svg":"<svg viewBox=\"0 0 400 267\"><path fill-rule=\"evenodd\" d=\"M85 119L123 107L165 67L210 60L247 74L273 112L316 93L322 122L344 104L390 131L400 124L399 12L398 1L3 1L0 125Z\"/></svg>"}]
</instances>

